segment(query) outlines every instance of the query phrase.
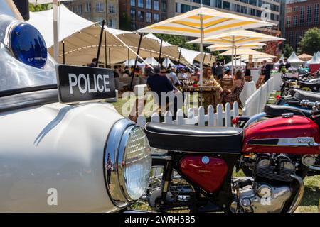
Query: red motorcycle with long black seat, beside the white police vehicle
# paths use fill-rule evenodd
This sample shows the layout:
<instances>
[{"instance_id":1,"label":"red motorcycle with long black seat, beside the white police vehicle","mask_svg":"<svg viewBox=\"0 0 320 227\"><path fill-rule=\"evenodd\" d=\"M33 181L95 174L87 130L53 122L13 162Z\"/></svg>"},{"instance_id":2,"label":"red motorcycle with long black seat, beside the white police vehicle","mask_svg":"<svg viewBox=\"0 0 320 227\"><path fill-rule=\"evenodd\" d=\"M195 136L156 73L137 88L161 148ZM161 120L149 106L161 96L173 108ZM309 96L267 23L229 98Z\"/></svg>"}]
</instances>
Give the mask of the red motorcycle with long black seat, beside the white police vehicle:
<instances>
[{"instance_id":1,"label":"red motorcycle with long black seat, beside the white police vehicle","mask_svg":"<svg viewBox=\"0 0 320 227\"><path fill-rule=\"evenodd\" d=\"M319 103L307 105L319 118ZM156 211L294 212L320 153L319 126L293 114L253 123L261 116L243 129L147 123L151 147L166 150L153 155L154 168L163 170L150 179L149 205ZM244 165L252 176L235 177Z\"/></svg>"}]
</instances>

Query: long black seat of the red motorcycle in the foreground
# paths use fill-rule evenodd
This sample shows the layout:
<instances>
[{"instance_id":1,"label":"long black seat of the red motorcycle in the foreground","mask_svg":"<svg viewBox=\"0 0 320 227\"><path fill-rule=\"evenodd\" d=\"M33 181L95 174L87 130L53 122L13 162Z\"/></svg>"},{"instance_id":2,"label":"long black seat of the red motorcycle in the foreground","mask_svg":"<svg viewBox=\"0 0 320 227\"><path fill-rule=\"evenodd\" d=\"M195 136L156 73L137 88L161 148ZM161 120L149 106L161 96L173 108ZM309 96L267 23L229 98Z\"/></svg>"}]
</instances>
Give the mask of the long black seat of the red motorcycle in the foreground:
<instances>
[{"instance_id":1,"label":"long black seat of the red motorcycle in the foreground","mask_svg":"<svg viewBox=\"0 0 320 227\"><path fill-rule=\"evenodd\" d=\"M241 128L147 123L144 131L153 148L165 150L240 153Z\"/></svg>"}]
</instances>

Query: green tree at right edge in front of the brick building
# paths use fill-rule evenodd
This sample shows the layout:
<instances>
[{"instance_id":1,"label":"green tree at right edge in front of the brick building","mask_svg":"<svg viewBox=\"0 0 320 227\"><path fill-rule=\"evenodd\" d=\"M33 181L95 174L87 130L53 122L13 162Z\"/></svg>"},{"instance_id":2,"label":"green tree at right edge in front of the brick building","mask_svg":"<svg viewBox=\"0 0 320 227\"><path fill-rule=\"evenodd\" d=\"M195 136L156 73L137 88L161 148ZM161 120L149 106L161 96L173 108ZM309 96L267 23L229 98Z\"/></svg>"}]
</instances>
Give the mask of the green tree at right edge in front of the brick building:
<instances>
[{"instance_id":1,"label":"green tree at right edge in front of the brick building","mask_svg":"<svg viewBox=\"0 0 320 227\"><path fill-rule=\"evenodd\" d=\"M304 36L302 36L302 40L300 40L298 45L300 53L313 55L314 52L320 50L320 29L310 28L304 33Z\"/></svg>"}]
</instances>

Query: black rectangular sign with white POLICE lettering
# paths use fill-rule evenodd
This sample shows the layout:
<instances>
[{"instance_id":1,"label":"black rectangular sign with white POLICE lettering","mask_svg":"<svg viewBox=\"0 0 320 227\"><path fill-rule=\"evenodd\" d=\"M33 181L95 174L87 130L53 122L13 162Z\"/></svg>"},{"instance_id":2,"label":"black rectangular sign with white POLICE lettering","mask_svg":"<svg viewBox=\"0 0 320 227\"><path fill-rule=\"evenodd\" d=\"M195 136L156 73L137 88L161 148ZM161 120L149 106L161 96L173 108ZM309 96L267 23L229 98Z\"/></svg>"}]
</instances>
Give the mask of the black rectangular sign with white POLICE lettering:
<instances>
[{"instance_id":1,"label":"black rectangular sign with white POLICE lettering","mask_svg":"<svg viewBox=\"0 0 320 227\"><path fill-rule=\"evenodd\" d=\"M58 65L59 101L74 103L116 96L112 70L97 67Z\"/></svg>"}]
</instances>

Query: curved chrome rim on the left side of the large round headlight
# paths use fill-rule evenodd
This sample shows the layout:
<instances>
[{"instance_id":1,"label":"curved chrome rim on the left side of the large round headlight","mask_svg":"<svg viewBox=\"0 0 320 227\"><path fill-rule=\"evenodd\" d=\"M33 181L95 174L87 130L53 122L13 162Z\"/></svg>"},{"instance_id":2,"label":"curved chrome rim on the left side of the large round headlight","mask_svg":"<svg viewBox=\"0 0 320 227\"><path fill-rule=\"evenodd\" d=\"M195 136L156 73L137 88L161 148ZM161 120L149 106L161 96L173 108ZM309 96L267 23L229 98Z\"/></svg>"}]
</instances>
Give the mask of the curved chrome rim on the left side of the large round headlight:
<instances>
[{"instance_id":1,"label":"curved chrome rim on the left side of the large round headlight","mask_svg":"<svg viewBox=\"0 0 320 227\"><path fill-rule=\"evenodd\" d=\"M110 199L115 206L120 208L127 206L129 204L129 199L127 199L124 189L122 188L122 184L119 182L118 167L122 167L122 163L119 162L119 146L124 132L127 128L132 126L134 126L134 123L125 118L114 123L114 126L112 126L108 135L107 145L105 148L105 183L107 191L110 194ZM123 153L124 151L122 151L122 155L120 155L120 157L122 157L121 161L123 159ZM108 167L109 160L111 162L111 167L110 165ZM121 171L122 170L120 170L120 172Z\"/></svg>"}]
</instances>

